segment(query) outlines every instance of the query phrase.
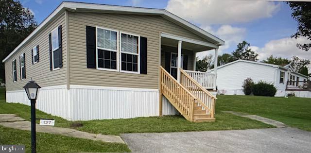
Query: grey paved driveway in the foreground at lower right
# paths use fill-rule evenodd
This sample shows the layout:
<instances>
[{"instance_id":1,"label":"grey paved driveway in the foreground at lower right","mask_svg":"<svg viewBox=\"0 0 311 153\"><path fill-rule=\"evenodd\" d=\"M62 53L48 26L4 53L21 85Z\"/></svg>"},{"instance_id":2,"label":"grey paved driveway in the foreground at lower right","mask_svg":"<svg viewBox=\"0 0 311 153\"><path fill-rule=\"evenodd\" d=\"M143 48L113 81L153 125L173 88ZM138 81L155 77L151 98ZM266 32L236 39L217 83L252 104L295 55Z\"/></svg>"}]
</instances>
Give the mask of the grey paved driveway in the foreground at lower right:
<instances>
[{"instance_id":1,"label":"grey paved driveway in the foreground at lower right","mask_svg":"<svg viewBox=\"0 0 311 153\"><path fill-rule=\"evenodd\" d=\"M140 153L310 153L311 132L270 128L182 133L122 134Z\"/></svg>"}]
</instances>

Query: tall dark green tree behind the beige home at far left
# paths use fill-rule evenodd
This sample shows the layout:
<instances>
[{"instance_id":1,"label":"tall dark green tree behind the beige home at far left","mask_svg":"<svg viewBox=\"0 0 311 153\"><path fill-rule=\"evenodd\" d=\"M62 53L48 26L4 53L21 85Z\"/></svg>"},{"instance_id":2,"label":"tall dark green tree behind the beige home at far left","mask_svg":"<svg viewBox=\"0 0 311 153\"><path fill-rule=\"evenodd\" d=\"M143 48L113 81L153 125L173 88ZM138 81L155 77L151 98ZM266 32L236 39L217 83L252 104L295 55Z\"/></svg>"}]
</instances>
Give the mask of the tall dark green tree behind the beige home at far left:
<instances>
[{"instance_id":1,"label":"tall dark green tree behind the beige home at far left","mask_svg":"<svg viewBox=\"0 0 311 153\"><path fill-rule=\"evenodd\" d=\"M2 61L36 27L34 15L16 0L0 0L0 60ZM0 79L5 80L0 62Z\"/></svg>"}]
</instances>

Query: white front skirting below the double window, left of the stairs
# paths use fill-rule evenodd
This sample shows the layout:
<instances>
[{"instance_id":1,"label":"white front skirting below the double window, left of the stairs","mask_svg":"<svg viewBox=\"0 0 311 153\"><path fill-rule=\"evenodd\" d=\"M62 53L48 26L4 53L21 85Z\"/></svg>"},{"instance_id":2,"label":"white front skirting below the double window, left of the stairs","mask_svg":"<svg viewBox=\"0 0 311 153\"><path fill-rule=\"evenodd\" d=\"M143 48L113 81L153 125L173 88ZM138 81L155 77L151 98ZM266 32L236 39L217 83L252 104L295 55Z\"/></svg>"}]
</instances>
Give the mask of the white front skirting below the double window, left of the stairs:
<instances>
[{"instance_id":1,"label":"white front skirting below the double window, left of the stairs","mask_svg":"<svg viewBox=\"0 0 311 153\"><path fill-rule=\"evenodd\" d=\"M70 85L72 120L158 116L159 91Z\"/></svg>"}]
</instances>

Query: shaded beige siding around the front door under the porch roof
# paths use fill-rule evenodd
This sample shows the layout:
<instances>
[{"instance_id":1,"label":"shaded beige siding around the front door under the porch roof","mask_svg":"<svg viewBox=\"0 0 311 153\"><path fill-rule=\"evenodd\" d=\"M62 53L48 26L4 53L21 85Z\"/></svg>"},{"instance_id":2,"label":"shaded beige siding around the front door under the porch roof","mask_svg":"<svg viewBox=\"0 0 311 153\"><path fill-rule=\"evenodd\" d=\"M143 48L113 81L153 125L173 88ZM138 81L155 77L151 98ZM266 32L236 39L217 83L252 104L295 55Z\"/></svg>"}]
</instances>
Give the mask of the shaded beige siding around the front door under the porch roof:
<instances>
[{"instance_id":1,"label":"shaded beige siding around the front door under the porch roof","mask_svg":"<svg viewBox=\"0 0 311 153\"><path fill-rule=\"evenodd\" d=\"M165 46L165 45L162 45L161 46L161 66L163 68L165 68L165 53L166 52L174 52L174 53L177 53L177 48L176 47L171 47L171 46ZM189 50L185 50L185 49L182 49L181 50L181 54L184 54L184 55L188 55L188 70L193 70L193 56L194 56L194 53L193 51L189 51Z\"/></svg>"}]
</instances>

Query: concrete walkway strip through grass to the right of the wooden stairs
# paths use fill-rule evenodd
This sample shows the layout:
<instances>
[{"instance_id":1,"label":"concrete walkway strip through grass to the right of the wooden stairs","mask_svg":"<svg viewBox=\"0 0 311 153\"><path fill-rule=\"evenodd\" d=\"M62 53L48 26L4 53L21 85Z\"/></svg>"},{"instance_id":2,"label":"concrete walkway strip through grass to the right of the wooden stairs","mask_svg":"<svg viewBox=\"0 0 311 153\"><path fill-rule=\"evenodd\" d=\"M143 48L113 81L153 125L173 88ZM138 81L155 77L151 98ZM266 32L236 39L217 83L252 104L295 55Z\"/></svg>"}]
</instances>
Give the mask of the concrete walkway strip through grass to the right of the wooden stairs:
<instances>
[{"instance_id":1,"label":"concrete walkway strip through grass to the right of the wooden stairs","mask_svg":"<svg viewBox=\"0 0 311 153\"><path fill-rule=\"evenodd\" d=\"M277 128L285 128L285 127L287 127L287 125L285 125L284 123L282 123L280 121L273 120L273 119L268 119L268 118L264 118L264 117L260 117L260 116L257 116L257 115L250 115L250 114L234 112L234 111L222 111L222 112L230 113L230 114L241 116L241 117L244 117L244 118L258 120L258 121L264 122L266 124L273 125L273 126L275 126Z\"/></svg>"}]
</instances>

